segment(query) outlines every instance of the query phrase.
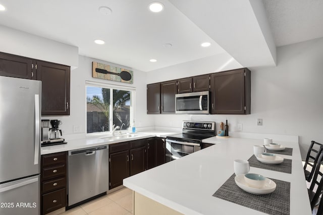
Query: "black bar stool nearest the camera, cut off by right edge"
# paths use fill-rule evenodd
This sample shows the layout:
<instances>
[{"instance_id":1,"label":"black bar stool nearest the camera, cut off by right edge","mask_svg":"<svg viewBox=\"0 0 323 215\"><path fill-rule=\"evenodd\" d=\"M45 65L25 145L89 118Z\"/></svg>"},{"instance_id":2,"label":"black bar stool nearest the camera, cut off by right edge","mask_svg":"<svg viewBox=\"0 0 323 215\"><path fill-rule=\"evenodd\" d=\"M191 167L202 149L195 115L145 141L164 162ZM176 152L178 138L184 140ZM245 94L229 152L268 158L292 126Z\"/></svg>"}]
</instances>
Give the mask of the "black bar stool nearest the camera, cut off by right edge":
<instances>
[{"instance_id":1,"label":"black bar stool nearest the camera, cut off by right edge","mask_svg":"<svg viewBox=\"0 0 323 215\"><path fill-rule=\"evenodd\" d=\"M319 158L317 159L317 165L314 171L313 179L309 189L307 189L312 210L314 206L317 205L319 196L321 195L323 190L323 166L321 168L321 165L323 165L323 153L321 153ZM318 177L318 175L320 177ZM314 188L316 188L316 190L314 190ZM320 204L321 203L322 202L320 202Z\"/></svg>"}]
</instances>

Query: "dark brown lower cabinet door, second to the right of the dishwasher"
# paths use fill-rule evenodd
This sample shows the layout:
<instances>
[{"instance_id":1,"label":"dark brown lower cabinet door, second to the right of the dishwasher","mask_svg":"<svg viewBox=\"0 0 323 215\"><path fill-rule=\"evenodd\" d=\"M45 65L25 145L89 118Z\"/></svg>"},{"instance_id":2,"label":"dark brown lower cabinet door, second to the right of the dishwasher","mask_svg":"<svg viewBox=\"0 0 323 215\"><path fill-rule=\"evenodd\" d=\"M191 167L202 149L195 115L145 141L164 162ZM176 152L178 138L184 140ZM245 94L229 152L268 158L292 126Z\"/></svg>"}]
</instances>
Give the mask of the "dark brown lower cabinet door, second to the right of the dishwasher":
<instances>
[{"instance_id":1,"label":"dark brown lower cabinet door, second to the right of the dishwasher","mask_svg":"<svg viewBox=\"0 0 323 215\"><path fill-rule=\"evenodd\" d=\"M130 150L130 176L143 172L147 169L146 147Z\"/></svg>"}]
</instances>

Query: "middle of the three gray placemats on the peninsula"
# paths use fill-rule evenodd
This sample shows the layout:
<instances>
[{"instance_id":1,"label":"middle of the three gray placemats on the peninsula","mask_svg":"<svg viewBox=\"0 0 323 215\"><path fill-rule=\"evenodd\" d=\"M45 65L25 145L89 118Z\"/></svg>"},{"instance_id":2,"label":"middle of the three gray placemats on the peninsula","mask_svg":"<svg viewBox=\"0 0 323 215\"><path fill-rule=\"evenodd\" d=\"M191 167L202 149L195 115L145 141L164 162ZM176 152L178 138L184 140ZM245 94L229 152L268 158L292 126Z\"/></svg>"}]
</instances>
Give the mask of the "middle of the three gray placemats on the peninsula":
<instances>
[{"instance_id":1,"label":"middle of the three gray placemats on the peninsula","mask_svg":"<svg viewBox=\"0 0 323 215\"><path fill-rule=\"evenodd\" d=\"M252 155L249 158L249 165L250 167L256 167L260 169L265 170L273 170L277 172L283 172L283 173L292 173L292 160L284 158L283 163L277 164L277 165L269 165L269 164L263 164L260 161L257 160L256 156Z\"/></svg>"}]
</instances>

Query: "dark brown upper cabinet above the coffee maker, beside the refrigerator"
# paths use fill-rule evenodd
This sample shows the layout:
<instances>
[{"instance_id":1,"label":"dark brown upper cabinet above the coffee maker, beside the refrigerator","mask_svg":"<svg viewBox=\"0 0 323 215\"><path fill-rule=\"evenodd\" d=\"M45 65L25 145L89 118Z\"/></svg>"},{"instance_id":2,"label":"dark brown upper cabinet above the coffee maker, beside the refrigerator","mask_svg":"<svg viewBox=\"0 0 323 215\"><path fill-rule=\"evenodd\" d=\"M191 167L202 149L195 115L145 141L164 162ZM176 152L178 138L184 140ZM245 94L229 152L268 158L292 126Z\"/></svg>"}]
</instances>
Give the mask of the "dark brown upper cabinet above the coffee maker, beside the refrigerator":
<instances>
[{"instance_id":1,"label":"dark brown upper cabinet above the coffee maker, beside the refrigerator","mask_svg":"<svg viewBox=\"0 0 323 215\"><path fill-rule=\"evenodd\" d=\"M37 61L41 115L70 115L70 66Z\"/></svg>"}]
</instances>

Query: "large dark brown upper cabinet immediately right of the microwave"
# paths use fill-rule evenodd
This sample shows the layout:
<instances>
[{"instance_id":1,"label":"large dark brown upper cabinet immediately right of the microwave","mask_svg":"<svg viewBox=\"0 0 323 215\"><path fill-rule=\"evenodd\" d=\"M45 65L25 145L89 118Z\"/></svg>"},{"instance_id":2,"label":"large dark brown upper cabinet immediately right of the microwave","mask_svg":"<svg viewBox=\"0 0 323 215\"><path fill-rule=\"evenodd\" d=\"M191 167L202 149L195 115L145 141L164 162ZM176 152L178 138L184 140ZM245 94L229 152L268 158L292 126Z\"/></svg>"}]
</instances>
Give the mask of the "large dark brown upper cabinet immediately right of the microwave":
<instances>
[{"instance_id":1,"label":"large dark brown upper cabinet immediately right of the microwave","mask_svg":"<svg viewBox=\"0 0 323 215\"><path fill-rule=\"evenodd\" d=\"M250 70L211 74L211 114L250 114Z\"/></svg>"}]
</instances>

